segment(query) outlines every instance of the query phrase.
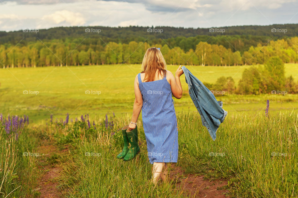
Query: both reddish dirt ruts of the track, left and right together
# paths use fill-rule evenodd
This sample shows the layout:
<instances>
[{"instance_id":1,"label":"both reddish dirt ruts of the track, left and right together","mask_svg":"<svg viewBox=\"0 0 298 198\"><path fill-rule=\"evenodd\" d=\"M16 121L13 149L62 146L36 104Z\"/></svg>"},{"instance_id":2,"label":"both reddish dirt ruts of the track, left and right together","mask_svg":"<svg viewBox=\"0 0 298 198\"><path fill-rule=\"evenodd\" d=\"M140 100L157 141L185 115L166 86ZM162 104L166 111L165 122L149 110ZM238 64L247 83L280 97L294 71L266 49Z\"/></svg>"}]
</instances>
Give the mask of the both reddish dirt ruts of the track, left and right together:
<instances>
[{"instance_id":1,"label":"both reddish dirt ruts of the track, left and right together","mask_svg":"<svg viewBox=\"0 0 298 198\"><path fill-rule=\"evenodd\" d=\"M35 193L38 193L39 198L62 197L61 190L57 188L58 177L62 171L61 165L67 163L61 159L68 154L68 149L59 150L51 142L44 142L42 146L38 147L37 152L40 155L37 165L38 169L42 171L42 175L38 179ZM179 166L174 164L171 165L169 179L177 182L176 187L182 190L181 194L189 197L224 198L226 197L224 194L228 192L220 189L228 184L227 181L204 181L204 175L185 174Z\"/></svg>"}]
</instances>

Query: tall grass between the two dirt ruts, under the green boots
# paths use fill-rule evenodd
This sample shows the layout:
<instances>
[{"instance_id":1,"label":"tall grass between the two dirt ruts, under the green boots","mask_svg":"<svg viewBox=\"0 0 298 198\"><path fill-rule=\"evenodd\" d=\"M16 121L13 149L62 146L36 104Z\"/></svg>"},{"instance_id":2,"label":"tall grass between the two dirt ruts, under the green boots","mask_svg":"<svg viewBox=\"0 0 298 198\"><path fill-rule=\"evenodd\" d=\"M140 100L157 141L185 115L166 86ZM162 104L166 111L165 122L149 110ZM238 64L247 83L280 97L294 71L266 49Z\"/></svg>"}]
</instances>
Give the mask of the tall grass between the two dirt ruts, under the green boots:
<instances>
[{"instance_id":1,"label":"tall grass between the two dirt ruts, under the green boots","mask_svg":"<svg viewBox=\"0 0 298 198\"><path fill-rule=\"evenodd\" d=\"M154 186L149 182L152 170L142 127L140 154L128 162L116 158L123 148L119 129L129 115L112 119L96 120L96 129L93 125L89 128L86 120L58 124L54 134L57 143L71 145L60 177L63 197L183 197L173 183ZM51 127L48 133L57 125Z\"/></svg>"}]
</instances>

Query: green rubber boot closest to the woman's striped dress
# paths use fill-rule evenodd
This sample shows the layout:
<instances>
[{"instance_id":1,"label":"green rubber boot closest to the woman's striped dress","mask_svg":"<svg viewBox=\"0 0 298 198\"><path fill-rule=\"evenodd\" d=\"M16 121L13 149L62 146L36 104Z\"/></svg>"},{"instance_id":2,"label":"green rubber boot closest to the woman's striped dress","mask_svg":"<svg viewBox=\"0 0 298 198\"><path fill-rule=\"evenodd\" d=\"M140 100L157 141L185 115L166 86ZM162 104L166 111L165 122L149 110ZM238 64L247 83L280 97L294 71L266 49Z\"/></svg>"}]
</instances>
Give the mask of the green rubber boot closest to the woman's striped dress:
<instances>
[{"instance_id":1,"label":"green rubber boot closest to the woman's striped dress","mask_svg":"<svg viewBox=\"0 0 298 198\"><path fill-rule=\"evenodd\" d=\"M126 130L126 134L128 137L129 147L128 152L123 158L124 161L129 161L136 157L136 155L140 152L140 147L138 145L138 128L137 126L130 131L129 129Z\"/></svg>"}]
</instances>

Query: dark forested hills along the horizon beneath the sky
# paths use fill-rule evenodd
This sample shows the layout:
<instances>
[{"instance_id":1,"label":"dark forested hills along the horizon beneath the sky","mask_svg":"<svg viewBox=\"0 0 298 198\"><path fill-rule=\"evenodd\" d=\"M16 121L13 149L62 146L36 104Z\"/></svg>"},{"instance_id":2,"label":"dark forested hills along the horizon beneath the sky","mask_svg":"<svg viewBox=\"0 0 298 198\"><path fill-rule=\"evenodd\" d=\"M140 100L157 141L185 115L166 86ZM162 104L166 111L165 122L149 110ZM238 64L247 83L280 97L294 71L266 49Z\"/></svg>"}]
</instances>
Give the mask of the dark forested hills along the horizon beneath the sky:
<instances>
[{"instance_id":1,"label":"dark forested hills along the horizon beneath the sky","mask_svg":"<svg viewBox=\"0 0 298 198\"><path fill-rule=\"evenodd\" d=\"M87 29L87 30L86 30ZM88 31L89 29L89 31ZM100 30L99 31L92 31ZM216 31L224 30L223 31ZM276 31L274 31L276 29ZM162 30L154 31L154 30ZM212 31L214 30L214 31ZM278 30L286 30L280 32ZM218 35L249 35L252 37L295 37L298 32L298 24L273 24L273 25L243 25L243 26L230 26L230 27L214 27L214 28L183 28L183 27L142 27L142 26L129 26L129 27L56 27L49 29L38 29L37 31L19 30L13 32L0 31L0 43L12 43L16 45L22 38L23 42L38 41L40 40L53 40L53 39L67 39L67 38L103 38L106 42L116 43L129 43L130 41L144 41L148 38L149 41L156 42L157 39L168 39L175 37L196 37L201 36L218 36ZM257 37L256 37L257 38ZM187 49L188 50L188 49ZM239 50L239 49L238 49Z\"/></svg>"}]
</instances>

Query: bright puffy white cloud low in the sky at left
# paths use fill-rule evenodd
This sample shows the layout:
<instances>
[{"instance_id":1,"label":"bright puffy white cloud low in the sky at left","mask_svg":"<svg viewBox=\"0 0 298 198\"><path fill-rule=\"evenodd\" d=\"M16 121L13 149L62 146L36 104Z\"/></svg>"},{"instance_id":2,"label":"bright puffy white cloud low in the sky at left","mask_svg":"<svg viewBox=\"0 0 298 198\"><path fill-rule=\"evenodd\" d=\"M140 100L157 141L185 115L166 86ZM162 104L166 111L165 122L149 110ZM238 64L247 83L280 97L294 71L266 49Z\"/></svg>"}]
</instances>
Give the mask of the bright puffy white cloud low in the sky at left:
<instances>
[{"instance_id":1,"label":"bright puffy white cloud low in the sky at left","mask_svg":"<svg viewBox=\"0 0 298 198\"><path fill-rule=\"evenodd\" d=\"M41 19L52 21L55 24L61 24L62 22L66 22L71 26L83 25L86 22L81 13L75 13L68 10L56 11L53 14L44 15Z\"/></svg>"}]
</instances>

